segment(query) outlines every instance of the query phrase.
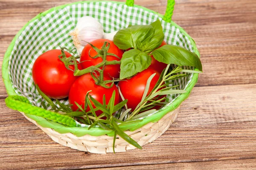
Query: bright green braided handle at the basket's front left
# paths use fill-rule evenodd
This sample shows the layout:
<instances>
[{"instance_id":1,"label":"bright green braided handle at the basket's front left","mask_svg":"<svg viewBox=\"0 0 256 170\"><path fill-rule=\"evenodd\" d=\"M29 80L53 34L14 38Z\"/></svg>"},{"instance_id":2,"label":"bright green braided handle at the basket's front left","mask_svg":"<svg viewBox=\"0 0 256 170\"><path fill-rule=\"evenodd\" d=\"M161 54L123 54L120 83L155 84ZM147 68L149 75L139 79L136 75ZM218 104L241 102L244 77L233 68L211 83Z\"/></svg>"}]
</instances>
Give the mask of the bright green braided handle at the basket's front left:
<instances>
[{"instance_id":1,"label":"bright green braided handle at the basket's front left","mask_svg":"<svg viewBox=\"0 0 256 170\"><path fill-rule=\"evenodd\" d=\"M40 116L45 119L52 120L54 122L67 125L69 127L76 127L76 121L70 116L65 116L59 113L45 110L36 106L32 106L29 100L23 96L8 96L5 99L6 106L23 113L32 114L35 116Z\"/></svg>"}]
</instances>

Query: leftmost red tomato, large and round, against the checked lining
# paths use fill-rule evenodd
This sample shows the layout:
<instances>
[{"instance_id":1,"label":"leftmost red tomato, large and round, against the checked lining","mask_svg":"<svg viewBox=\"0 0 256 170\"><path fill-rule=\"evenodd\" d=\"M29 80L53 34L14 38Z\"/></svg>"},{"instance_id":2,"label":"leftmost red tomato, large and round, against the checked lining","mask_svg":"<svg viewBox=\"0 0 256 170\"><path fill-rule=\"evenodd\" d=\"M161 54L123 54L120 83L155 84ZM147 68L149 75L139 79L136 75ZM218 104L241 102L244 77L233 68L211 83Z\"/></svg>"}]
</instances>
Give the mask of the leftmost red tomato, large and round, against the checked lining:
<instances>
[{"instance_id":1,"label":"leftmost red tomato, large and round, against the checked lining","mask_svg":"<svg viewBox=\"0 0 256 170\"><path fill-rule=\"evenodd\" d=\"M65 51L67 57L71 54ZM58 58L61 50L49 50L39 56L32 68L32 77L35 85L47 96L54 99L62 99L68 96L70 87L77 79L74 72L68 70ZM81 65L78 65L81 69ZM73 65L70 65L74 69Z\"/></svg>"}]
</instances>

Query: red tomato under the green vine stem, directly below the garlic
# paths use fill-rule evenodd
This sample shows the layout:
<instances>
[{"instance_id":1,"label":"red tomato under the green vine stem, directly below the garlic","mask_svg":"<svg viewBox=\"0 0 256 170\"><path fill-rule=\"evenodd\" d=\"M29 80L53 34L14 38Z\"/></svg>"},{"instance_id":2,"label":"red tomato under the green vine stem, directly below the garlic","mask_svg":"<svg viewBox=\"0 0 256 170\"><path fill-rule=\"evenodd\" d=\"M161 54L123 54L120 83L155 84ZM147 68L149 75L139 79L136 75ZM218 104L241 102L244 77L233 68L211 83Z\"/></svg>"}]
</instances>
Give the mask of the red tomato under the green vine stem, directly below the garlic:
<instances>
[{"instance_id":1,"label":"red tomato under the green vine stem, directly below the garlic","mask_svg":"<svg viewBox=\"0 0 256 170\"><path fill-rule=\"evenodd\" d=\"M122 58L122 54L124 53L123 50L120 50L113 41L111 40L107 40L107 39L99 39L99 40L94 40L93 42L90 42L92 45L94 45L95 47L101 49L102 45L104 44L104 42L107 41L110 43L110 48L108 49L108 53L112 53L112 54L116 54L116 56L118 56L120 59ZM87 68L90 67L92 65L97 65L99 63L102 62L102 58L98 57L96 59L92 59L89 56L89 51L90 51L90 56L91 57L95 57L97 55L97 52L89 45L85 45L82 53L81 53L81 65L83 68ZM113 61L113 60L117 60L119 61L120 59L114 57L114 56L107 56L107 61ZM106 65L105 70L104 70L104 74L109 74L111 77L114 78L119 78L119 74L120 74L120 65L116 64L116 65Z\"/></svg>"}]
</instances>

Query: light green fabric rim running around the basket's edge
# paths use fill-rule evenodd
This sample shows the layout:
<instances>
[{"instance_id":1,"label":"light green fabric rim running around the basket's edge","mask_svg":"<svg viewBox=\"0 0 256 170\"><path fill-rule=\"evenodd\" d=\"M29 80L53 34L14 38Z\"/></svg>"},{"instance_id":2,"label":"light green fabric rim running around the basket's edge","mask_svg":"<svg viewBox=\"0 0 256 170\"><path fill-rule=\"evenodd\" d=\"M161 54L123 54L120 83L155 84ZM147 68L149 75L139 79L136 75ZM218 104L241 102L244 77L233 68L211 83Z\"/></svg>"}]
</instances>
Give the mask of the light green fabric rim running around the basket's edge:
<instances>
[{"instance_id":1,"label":"light green fabric rim running around the basket's edge","mask_svg":"<svg viewBox=\"0 0 256 170\"><path fill-rule=\"evenodd\" d=\"M64 5L61 5L61 6L57 6L57 7L54 7L54 8L50 8L48 9L47 11L44 11L40 14L38 14L37 16L35 16L34 18L32 18L31 20L29 20L28 23L26 23L25 26L23 26L20 31L18 31L18 33L15 35L15 37L13 38L12 42L10 43L9 47L7 48L7 51L4 55L4 58L3 58L3 65L2 65L2 74L3 74L3 82L5 84L5 87L6 87L6 92L7 94L10 96L10 95L17 95L14 91L14 89L12 88L12 83L10 81L10 77L9 77L9 58L11 57L11 52L15 46L15 42L17 40L17 38L20 36L20 34L22 33L22 31L31 23L33 22L34 20L40 18L40 17L44 17L46 14L52 12L52 11L55 11L55 10L58 10L58 9L63 9L67 6L72 6L72 5L75 5L75 4L79 4L79 3L91 3L91 2L111 2L111 3L117 3L117 4L125 4L125 2L118 2L118 1L110 1L110 0L102 0L102 1L95 1L95 0L88 0L88 1L79 1L79 2L75 2L75 3L67 3L67 4L64 4ZM143 6L139 6L139 5L134 5L133 7L135 8L142 8L143 10L145 11L149 11L151 13L154 13L154 14L157 14L160 18L163 19L163 15L162 14L159 14L158 12L156 11L153 11L153 10L150 10L148 8L145 8ZM195 53L198 55L198 57L200 57L200 54L199 54L199 51L195 45L195 41L189 36L189 34L186 33L186 31L181 28L180 26L178 26L175 22L171 21L170 22L172 24L172 26L175 26L176 28L178 28L180 30L181 33L185 34L185 36L189 39L189 41L191 42L191 45L192 45L192 48L193 50L195 51ZM179 96L177 96L177 98L172 102L172 105L170 105L169 107L163 109L162 111L159 111L158 113L155 113L151 116L148 116L148 117L145 117L145 119L143 119L142 122L140 123L137 123L136 125L127 125L127 126L124 126L122 127L123 130L137 130L138 128L146 125L147 123L149 122L157 122L158 120L160 120L166 113L169 113L170 111L174 111L178 106L181 105L181 103L189 96L189 94L191 93L192 91L192 88L195 86L196 82L198 80L198 74L193 74L192 75L192 79L191 81L189 82L189 84L186 86L186 93L184 94L180 94ZM52 128L52 129L55 129L57 130L59 133L73 133L75 134L76 136L83 136L84 134L88 134L89 130L85 130L87 128L81 128L81 127L67 127L65 125L61 125L61 124L58 124L56 122L53 122L53 121L49 121L47 119L44 119L43 117L38 117L38 116L35 116L35 115L31 115L31 114L26 114L26 116L28 116L29 118L31 119L34 119L35 121L38 122L39 125L41 125L42 127L49 127L49 128ZM45 121L44 121L44 120ZM57 125L58 124L58 125ZM61 125L61 127L60 127ZM66 127L66 128L64 128ZM79 128L79 129L77 129ZM103 130L102 128L100 127L93 127L91 128L92 131L94 131L93 133L93 136L100 136L102 135L103 133L104 134L108 134L108 135L111 135L110 131L109 130ZM82 135L83 134L83 135ZM90 134L91 135L91 134Z\"/></svg>"}]
</instances>

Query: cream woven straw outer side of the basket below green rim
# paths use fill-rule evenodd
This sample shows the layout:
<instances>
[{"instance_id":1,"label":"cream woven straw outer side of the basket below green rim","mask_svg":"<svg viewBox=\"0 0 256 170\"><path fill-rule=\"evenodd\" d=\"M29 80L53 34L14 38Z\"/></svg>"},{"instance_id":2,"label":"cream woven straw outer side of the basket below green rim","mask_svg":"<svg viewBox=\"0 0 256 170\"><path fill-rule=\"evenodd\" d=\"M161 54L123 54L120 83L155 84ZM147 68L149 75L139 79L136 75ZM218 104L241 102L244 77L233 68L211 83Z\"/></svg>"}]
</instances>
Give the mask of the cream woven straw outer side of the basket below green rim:
<instances>
[{"instance_id":1,"label":"cream woven straw outer side of the basket below green rim","mask_svg":"<svg viewBox=\"0 0 256 170\"><path fill-rule=\"evenodd\" d=\"M151 143L159 136L161 136L175 121L179 109L180 108L177 108L174 111L167 113L158 122L149 122L147 125L141 127L140 129L137 129L133 132L127 130L125 133L131 136L131 138L136 142L138 142L140 146ZM26 117L24 113L22 114ZM28 117L26 117L26 119L40 127L45 133L47 133L48 136L52 138L53 141L61 145L71 147L76 150L88 151L90 153L113 153L113 137L108 135L84 135L77 137L72 133L61 134L55 130L52 130L51 128L41 127L37 124L37 122ZM115 152L125 152L126 150L133 150L135 148L136 147L129 144L124 139L116 136Z\"/></svg>"}]
</instances>

